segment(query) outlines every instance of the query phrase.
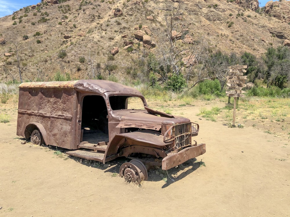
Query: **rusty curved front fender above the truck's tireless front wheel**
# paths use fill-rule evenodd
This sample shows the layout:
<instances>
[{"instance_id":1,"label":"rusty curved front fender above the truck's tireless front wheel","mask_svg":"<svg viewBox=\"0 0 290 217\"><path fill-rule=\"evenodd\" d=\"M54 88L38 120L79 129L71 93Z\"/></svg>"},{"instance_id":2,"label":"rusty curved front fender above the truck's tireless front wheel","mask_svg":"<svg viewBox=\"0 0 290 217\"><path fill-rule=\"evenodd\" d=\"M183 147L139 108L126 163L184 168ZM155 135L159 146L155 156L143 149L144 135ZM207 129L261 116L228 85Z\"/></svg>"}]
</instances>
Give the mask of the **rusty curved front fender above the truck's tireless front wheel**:
<instances>
[{"instance_id":1,"label":"rusty curved front fender above the truck's tireless front wheel","mask_svg":"<svg viewBox=\"0 0 290 217\"><path fill-rule=\"evenodd\" d=\"M116 155L118 150L123 147L143 146L146 147L146 149L164 150L165 146L170 144L172 143L163 141L163 135L161 135L161 133L151 130L138 130L131 133L117 134L108 144L103 163L109 160L106 160L107 157Z\"/></svg>"}]
</instances>

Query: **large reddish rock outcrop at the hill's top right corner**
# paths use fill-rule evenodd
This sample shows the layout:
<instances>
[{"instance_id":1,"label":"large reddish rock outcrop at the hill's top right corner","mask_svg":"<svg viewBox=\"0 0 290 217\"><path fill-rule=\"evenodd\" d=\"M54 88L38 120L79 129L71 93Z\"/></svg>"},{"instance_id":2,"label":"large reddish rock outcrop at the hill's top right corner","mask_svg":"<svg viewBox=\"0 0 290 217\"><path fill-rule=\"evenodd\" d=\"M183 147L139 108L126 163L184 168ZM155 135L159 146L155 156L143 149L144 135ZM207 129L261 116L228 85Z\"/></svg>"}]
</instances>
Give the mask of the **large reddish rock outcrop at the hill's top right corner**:
<instances>
[{"instance_id":1,"label":"large reddish rock outcrop at the hill's top right corner","mask_svg":"<svg viewBox=\"0 0 290 217\"><path fill-rule=\"evenodd\" d=\"M268 1L265 13L285 22L290 22L290 1Z\"/></svg>"}]
</instances>

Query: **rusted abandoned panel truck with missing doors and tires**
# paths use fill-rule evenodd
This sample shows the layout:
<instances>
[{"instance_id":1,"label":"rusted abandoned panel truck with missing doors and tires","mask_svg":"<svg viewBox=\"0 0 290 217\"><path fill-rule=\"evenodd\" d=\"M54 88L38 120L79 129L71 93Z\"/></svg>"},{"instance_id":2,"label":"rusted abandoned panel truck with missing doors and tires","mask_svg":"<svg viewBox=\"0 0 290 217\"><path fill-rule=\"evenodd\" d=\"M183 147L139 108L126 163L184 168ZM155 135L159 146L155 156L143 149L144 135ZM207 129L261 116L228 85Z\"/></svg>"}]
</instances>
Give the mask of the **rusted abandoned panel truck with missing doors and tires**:
<instances>
[{"instance_id":1,"label":"rusted abandoned panel truck with missing doors and tires","mask_svg":"<svg viewBox=\"0 0 290 217\"><path fill-rule=\"evenodd\" d=\"M139 91L115 82L19 85L17 135L102 163L128 157L119 170L127 181L140 183L152 166L168 170L204 154L205 144L192 140L198 131L198 124L148 108Z\"/></svg>"}]
</instances>

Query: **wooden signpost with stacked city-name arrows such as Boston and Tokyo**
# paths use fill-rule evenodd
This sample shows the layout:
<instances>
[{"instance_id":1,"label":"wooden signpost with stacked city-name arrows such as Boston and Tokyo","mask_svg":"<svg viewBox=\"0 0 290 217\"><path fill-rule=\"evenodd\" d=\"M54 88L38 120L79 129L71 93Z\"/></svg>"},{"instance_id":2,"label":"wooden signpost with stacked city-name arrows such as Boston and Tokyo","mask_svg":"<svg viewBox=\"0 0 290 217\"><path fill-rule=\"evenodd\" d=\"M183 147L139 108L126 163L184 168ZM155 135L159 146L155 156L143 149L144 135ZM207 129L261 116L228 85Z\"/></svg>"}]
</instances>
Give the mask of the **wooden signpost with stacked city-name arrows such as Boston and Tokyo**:
<instances>
[{"instance_id":1,"label":"wooden signpost with stacked city-name arrows such as Boston and Tokyo","mask_svg":"<svg viewBox=\"0 0 290 217\"><path fill-rule=\"evenodd\" d=\"M247 86L245 84L247 76L244 76L243 73L246 72L245 69L247 68L247 65L229 66L229 76L226 77L226 85L228 86L228 89L226 90L226 95L229 97L234 97L233 126L235 126L237 97L245 97L245 95L243 94L245 93L245 91L242 91L242 88Z\"/></svg>"}]
</instances>

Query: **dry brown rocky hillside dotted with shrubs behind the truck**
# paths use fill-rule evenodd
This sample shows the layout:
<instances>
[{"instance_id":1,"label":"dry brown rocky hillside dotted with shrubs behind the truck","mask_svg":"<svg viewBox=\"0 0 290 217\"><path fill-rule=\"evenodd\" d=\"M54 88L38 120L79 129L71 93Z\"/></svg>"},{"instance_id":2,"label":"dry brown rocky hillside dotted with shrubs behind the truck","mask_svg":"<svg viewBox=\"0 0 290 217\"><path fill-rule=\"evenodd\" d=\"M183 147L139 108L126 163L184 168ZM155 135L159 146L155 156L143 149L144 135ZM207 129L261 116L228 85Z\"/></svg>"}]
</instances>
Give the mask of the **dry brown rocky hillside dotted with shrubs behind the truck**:
<instances>
[{"instance_id":1,"label":"dry brown rocky hillside dotted with shrubs behind the truck","mask_svg":"<svg viewBox=\"0 0 290 217\"><path fill-rule=\"evenodd\" d=\"M289 46L290 1L271 2L255 12L229 0L184 1L180 25L172 30L185 30L189 41L177 45L256 56L269 46ZM49 0L23 8L0 18L0 80L20 80L16 50L23 81L51 80L57 71L73 79L109 73L123 82L140 78L148 54L162 56L165 15L172 8L179 8L177 1Z\"/></svg>"}]
</instances>

